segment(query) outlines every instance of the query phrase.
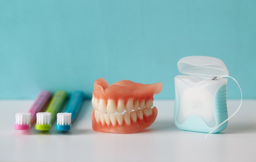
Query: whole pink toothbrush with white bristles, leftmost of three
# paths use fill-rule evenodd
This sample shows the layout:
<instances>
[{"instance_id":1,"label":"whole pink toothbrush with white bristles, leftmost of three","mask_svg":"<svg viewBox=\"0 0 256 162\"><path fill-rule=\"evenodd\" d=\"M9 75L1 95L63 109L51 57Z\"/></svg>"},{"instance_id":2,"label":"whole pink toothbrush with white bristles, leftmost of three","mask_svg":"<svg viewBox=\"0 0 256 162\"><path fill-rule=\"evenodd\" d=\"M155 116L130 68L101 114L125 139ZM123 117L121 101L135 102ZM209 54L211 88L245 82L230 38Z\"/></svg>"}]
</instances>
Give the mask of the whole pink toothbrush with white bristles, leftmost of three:
<instances>
[{"instance_id":1,"label":"whole pink toothbrush with white bristles, leftmost of three","mask_svg":"<svg viewBox=\"0 0 256 162\"><path fill-rule=\"evenodd\" d=\"M16 122L14 128L16 130L29 130L31 125L36 122L36 113L44 111L45 104L50 97L51 93L49 91L41 91L28 112L15 114Z\"/></svg>"}]
</instances>

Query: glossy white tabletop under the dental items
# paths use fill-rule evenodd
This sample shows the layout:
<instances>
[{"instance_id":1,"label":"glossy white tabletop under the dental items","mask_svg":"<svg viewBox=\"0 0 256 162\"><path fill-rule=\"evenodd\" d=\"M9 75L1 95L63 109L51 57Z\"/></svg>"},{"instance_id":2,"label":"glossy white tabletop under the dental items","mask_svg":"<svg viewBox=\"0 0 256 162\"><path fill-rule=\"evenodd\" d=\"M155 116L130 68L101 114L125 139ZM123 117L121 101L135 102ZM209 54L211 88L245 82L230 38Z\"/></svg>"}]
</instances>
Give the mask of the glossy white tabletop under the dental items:
<instances>
[{"instance_id":1,"label":"glossy white tabletop under the dental items","mask_svg":"<svg viewBox=\"0 0 256 162\"><path fill-rule=\"evenodd\" d=\"M91 101L83 104L71 131L14 130L15 113L26 112L31 100L0 100L0 161L255 161L256 100L241 109L221 133L179 130L173 122L173 100L155 100L156 121L135 134L92 130ZM239 100L228 100L231 115ZM54 124L55 125L55 124Z\"/></svg>"}]
</instances>

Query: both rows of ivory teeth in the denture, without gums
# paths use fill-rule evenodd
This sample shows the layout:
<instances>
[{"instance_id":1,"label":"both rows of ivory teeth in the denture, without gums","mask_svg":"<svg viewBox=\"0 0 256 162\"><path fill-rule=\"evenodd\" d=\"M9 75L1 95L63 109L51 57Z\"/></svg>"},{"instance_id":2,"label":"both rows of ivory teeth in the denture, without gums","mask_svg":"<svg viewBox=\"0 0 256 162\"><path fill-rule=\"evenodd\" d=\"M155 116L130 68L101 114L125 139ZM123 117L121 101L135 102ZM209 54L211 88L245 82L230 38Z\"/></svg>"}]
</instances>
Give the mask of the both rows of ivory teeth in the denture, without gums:
<instances>
[{"instance_id":1,"label":"both rows of ivory teeth in the denture, without gums","mask_svg":"<svg viewBox=\"0 0 256 162\"><path fill-rule=\"evenodd\" d=\"M113 99L108 99L108 102L106 102L104 99L97 99L92 96L92 106L95 109L94 116L97 124L107 124L108 126L111 123L113 126L116 123L122 125L123 122L130 125L131 121L136 123L139 119L143 120L143 116L148 117L153 114L151 109L153 99L134 101L130 98L126 102L120 99L116 105L116 101ZM135 109L135 111L132 111L132 109Z\"/></svg>"}]
</instances>

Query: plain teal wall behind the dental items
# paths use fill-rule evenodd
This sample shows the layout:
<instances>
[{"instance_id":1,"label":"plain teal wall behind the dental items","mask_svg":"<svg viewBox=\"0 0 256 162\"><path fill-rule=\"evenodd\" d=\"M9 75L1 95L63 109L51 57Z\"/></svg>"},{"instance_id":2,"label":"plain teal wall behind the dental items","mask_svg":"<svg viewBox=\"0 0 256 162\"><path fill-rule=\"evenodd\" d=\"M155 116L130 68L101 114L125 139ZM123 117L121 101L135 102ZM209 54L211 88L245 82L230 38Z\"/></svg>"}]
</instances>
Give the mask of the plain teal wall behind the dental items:
<instances>
[{"instance_id":1,"label":"plain teal wall behind the dental items","mask_svg":"<svg viewBox=\"0 0 256 162\"><path fill-rule=\"evenodd\" d=\"M100 77L161 81L155 98L174 98L177 61L189 55L220 58L256 98L256 1L0 1L0 99L42 89L90 98ZM240 98L232 80L228 98Z\"/></svg>"}]
</instances>

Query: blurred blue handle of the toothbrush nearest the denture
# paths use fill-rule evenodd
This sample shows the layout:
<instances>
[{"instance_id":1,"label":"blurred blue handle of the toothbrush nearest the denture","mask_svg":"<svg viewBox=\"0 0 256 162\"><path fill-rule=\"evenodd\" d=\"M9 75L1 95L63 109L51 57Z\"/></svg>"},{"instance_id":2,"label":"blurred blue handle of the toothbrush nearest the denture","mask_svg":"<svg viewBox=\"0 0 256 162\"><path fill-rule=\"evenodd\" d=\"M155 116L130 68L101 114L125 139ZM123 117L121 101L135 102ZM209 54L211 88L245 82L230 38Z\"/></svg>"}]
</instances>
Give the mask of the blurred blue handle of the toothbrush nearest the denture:
<instances>
[{"instance_id":1,"label":"blurred blue handle of the toothbrush nearest the denture","mask_svg":"<svg viewBox=\"0 0 256 162\"><path fill-rule=\"evenodd\" d=\"M81 91L75 91L71 94L70 99L68 101L68 106L66 112L72 113L71 115L71 123L76 118L76 115L81 108L81 105L84 100L84 93Z\"/></svg>"}]
</instances>

